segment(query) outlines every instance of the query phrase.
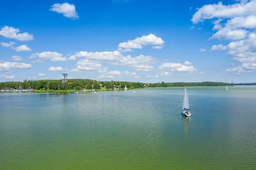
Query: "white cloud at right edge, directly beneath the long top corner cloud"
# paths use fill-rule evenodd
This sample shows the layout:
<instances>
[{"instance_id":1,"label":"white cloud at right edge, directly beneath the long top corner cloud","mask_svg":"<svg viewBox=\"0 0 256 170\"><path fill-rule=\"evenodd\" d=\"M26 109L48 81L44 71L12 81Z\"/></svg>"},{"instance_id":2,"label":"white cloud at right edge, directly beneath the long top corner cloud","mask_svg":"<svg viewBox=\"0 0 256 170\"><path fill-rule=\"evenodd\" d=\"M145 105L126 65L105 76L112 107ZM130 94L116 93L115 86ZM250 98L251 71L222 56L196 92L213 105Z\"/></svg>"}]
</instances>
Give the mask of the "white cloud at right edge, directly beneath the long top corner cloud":
<instances>
[{"instance_id":1,"label":"white cloud at right edge, directly beneath the long top corner cloud","mask_svg":"<svg viewBox=\"0 0 256 170\"><path fill-rule=\"evenodd\" d=\"M231 29L236 29L236 28L255 29L256 16L250 15L247 17L235 17L235 18L232 18L231 20L228 20L225 26Z\"/></svg>"}]
</instances>

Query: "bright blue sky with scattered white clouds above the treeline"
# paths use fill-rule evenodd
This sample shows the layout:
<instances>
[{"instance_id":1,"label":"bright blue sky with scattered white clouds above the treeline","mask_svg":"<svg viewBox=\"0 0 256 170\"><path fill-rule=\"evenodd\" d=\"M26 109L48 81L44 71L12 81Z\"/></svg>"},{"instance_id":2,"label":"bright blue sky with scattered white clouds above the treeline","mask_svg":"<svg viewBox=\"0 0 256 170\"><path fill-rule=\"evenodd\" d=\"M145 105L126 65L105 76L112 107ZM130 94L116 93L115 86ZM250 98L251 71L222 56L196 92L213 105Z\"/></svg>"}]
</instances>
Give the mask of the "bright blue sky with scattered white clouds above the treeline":
<instances>
[{"instance_id":1,"label":"bright blue sky with scattered white clouds above the treeline","mask_svg":"<svg viewBox=\"0 0 256 170\"><path fill-rule=\"evenodd\" d=\"M256 0L3 1L0 81L256 82Z\"/></svg>"}]
</instances>

